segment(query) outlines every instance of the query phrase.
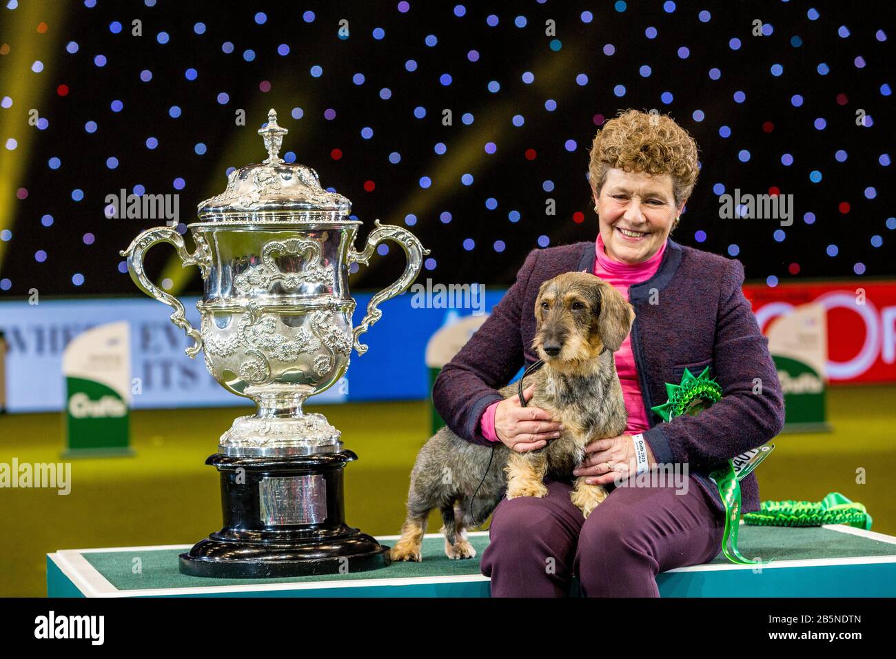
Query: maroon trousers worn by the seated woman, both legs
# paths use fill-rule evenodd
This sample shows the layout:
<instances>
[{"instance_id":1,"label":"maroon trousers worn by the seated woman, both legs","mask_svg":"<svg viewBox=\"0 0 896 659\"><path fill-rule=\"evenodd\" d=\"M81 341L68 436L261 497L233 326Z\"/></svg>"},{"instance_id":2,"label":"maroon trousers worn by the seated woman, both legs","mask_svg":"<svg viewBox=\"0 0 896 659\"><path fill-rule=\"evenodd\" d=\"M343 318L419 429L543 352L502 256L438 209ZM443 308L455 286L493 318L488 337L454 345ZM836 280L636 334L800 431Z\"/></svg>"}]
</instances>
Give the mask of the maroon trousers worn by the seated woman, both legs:
<instances>
[{"instance_id":1,"label":"maroon trousers worn by the seated woman, both legs","mask_svg":"<svg viewBox=\"0 0 896 659\"><path fill-rule=\"evenodd\" d=\"M588 519L569 499L572 484L545 484L543 499L503 499L495 508L480 566L493 597L565 597L573 574L586 597L659 597L659 572L721 551L724 514L694 478L686 493L617 487Z\"/></svg>"}]
</instances>

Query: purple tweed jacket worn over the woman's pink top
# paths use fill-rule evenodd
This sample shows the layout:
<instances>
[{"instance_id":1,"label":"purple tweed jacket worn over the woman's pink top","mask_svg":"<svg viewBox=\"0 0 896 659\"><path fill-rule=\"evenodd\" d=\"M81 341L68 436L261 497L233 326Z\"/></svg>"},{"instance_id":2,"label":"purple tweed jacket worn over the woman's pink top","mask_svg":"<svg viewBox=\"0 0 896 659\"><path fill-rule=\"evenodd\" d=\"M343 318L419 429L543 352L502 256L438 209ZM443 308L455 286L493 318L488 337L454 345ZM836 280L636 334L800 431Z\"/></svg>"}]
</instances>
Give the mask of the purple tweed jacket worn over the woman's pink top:
<instances>
[{"instance_id":1,"label":"purple tweed jacket worn over the woman's pink top","mask_svg":"<svg viewBox=\"0 0 896 659\"><path fill-rule=\"evenodd\" d=\"M593 272L594 249L594 240L533 249L486 322L442 369L433 403L457 435L491 446L479 431L480 417L489 404L502 400L497 388L538 360L531 348L538 287L560 273ZM784 425L778 372L741 290L743 282L739 261L668 239L657 273L629 288L636 314L632 351L650 423L644 438L658 463L688 464L719 514L719 491L708 474L769 441ZM722 387L718 403L698 416L671 421L650 411L666 402L667 382L681 382L685 368L697 375L707 366ZM754 394L757 382L761 394ZM741 510L759 510L755 473L741 481Z\"/></svg>"}]
</instances>

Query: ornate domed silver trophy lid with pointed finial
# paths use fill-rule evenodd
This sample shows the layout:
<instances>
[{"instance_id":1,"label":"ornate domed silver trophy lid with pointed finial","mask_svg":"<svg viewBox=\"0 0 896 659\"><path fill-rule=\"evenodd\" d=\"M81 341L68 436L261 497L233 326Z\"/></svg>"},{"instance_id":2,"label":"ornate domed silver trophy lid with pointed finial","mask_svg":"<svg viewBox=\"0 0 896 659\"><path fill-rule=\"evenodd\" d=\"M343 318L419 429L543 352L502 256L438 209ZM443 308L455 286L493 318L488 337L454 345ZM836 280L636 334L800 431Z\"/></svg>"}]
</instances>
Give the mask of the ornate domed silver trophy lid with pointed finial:
<instances>
[{"instance_id":1,"label":"ornate domed silver trophy lid with pointed finial","mask_svg":"<svg viewBox=\"0 0 896 659\"><path fill-rule=\"evenodd\" d=\"M225 220L218 216L254 212L338 212L348 215L351 202L342 195L324 190L314 169L280 158L283 135L287 133L286 128L277 125L277 112L271 108L268 123L258 131L264 139L268 157L260 163L231 171L224 192L199 204L200 219ZM284 220L302 221L302 218L293 215Z\"/></svg>"}]
</instances>

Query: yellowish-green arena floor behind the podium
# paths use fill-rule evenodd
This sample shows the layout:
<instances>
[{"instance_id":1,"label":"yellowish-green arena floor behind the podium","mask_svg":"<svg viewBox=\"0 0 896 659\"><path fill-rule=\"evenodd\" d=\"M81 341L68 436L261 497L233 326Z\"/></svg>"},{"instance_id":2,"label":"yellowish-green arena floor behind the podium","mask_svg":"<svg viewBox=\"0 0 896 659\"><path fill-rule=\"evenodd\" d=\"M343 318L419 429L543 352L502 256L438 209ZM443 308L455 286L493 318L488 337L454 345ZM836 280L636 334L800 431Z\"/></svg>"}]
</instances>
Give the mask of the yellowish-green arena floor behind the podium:
<instances>
[{"instance_id":1,"label":"yellowish-green arena floor behind the podium","mask_svg":"<svg viewBox=\"0 0 896 659\"><path fill-rule=\"evenodd\" d=\"M896 534L896 386L835 387L831 433L783 434L757 470L762 499L818 501L840 491L865 504L873 531ZM347 467L350 525L398 533L411 465L429 437L426 401L319 405L359 460ZM47 552L196 542L220 528L217 438L247 408L134 412L133 457L73 461L72 491L0 490L0 595L46 594ZM0 463L61 461L61 414L0 416ZM857 484L857 470L865 484ZM429 531L441 520L430 517Z\"/></svg>"}]
</instances>

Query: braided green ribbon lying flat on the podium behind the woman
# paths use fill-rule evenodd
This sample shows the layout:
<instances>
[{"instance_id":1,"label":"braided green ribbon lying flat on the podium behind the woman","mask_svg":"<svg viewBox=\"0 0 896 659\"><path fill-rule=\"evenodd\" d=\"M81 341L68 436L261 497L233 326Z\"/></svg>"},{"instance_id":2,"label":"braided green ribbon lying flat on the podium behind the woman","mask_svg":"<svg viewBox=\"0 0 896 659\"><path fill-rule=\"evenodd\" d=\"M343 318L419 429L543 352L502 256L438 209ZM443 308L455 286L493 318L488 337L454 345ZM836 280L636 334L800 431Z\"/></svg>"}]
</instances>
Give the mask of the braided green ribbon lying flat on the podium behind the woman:
<instances>
[{"instance_id":1,"label":"braided green ribbon lying flat on the podium behind the woman","mask_svg":"<svg viewBox=\"0 0 896 659\"><path fill-rule=\"evenodd\" d=\"M872 518L865 506L831 492L815 501L762 501L761 509L744 516L744 522L758 526L821 526L845 524L871 531Z\"/></svg>"}]
</instances>

